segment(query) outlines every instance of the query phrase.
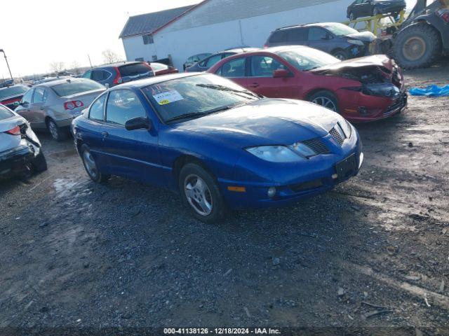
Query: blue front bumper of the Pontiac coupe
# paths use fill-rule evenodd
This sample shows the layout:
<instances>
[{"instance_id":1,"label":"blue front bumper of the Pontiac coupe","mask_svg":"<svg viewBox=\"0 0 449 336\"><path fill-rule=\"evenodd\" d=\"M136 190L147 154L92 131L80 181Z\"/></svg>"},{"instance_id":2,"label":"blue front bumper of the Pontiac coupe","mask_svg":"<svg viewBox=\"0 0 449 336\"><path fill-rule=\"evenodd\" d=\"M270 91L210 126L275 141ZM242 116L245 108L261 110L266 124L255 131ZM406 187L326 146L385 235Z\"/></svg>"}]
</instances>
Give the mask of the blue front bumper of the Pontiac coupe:
<instances>
[{"instance_id":1,"label":"blue front bumper of the Pontiac coupe","mask_svg":"<svg viewBox=\"0 0 449 336\"><path fill-rule=\"evenodd\" d=\"M283 207L294 204L304 198L330 190L337 184L356 176L363 162L361 141L352 144L349 150L344 151L343 156L336 154L322 156L326 158L311 162L307 172L297 169L296 177L288 174L291 176L288 181L276 183L275 179L264 182L218 179L220 189L227 204L233 209ZM354 162L344 162L348 158L353 158ZM274 172L274 174L282 173ZM229 186L244 188L245 191L229 190ZM268 191L272 187L276 188L276 195L269 197Z\"/></svg>"}]
</instances>

